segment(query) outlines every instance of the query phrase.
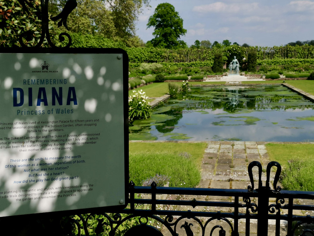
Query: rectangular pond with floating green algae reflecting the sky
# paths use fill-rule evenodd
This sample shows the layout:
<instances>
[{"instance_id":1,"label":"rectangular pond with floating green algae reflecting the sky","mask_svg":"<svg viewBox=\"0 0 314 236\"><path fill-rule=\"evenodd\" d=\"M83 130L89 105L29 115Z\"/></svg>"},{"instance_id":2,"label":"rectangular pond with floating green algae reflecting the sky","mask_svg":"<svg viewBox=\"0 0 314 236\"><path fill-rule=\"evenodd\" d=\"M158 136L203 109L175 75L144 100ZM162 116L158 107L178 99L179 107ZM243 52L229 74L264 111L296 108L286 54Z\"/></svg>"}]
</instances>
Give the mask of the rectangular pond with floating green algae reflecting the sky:
<instances>
[{"instance_id":1,"label":"rectangular pond with floating green algae reflecting the sky","mask_svg":"<svg viewBox=\"0 0 314 236\"><path fill-rule=\"evenodd\" d=\"M313 142L313 108L281 85L190 87L130 123L129 139Z\"/></svg>"}]
</instances>

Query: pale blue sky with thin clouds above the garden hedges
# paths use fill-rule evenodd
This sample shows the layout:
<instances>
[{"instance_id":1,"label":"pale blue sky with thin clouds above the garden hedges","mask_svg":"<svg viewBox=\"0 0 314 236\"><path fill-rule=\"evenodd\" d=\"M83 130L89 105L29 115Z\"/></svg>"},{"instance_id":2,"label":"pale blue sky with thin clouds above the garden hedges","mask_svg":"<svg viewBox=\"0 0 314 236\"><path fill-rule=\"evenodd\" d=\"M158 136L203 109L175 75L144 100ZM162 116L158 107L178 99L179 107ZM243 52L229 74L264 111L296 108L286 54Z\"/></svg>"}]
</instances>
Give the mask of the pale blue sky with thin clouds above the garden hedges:
<instances>
[{"instance_id":1,"label":"pale blue sky with thin clouds above the garden hedges","mask_svg":"<svg viewBox=\"0 0 314 236\"><path fill-rule=\"evenodd\" d=\"M149 16L165 2L183 19L187 33L181 39L188 45L197 39L211 43L228 39L272 47L314 39L314 0L151 0L151 8L143 8L137 22L136 33L144 42L153 38L154 29L146 29Z\"/></svg>"}]
</instances>

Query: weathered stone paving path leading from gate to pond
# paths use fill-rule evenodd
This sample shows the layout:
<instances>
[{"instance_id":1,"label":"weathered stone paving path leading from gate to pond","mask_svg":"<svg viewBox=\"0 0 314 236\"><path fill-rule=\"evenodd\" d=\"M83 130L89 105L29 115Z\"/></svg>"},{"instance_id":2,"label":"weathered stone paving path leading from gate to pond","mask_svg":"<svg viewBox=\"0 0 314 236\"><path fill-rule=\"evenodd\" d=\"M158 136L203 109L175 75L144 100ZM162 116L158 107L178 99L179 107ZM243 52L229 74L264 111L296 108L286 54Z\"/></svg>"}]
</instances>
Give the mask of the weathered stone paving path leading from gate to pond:
<instances>
[{"instance_id":1,"label":"weathered stone paving path leading from gate to pond","mask_svg":"<svg viewBox=\"0 0 314 236\"><path fill-rule=\"evenodd\" d=\"M198 188L225 188L225 189L247 189L248 185L251 185L250 179L248 176L247 167L248 164L252 161L259 161L263 170L266 170L267 164L270 162L267 150L265 147L265 142L208 142L208 147L205 149L205 153L203 155L202 165L201 165L201 181L198 185ZM270 182L273 183L273 177L275 176L276 168L273 167L271 171ZM258 172L257 167L253 168L253 177L254 177L254 188L258 187ZM266 182L266 171L262 172L262 181L263 186L265 186ZM277 185L281 185L278 183ZM171 199L177 198L178 196L168 196ZM180 196L182 200L191 200L196 197L196 200L206 200L206 201L233 201L232 197L224 197L224 196ZM257 204L257 199L251 199ZM243 203L243 202L242 202ZM314 205L313 201L306 202L304 204ZM221 212L233 212L233 209L225 209L223 207L206 207L202 209L193 209L191 206L180 206L180 210L192 210L192 211L221 211ZM245 208L239 209L239 212L245 213ZM311 214L314 215L314 212L295 212L296 215L306 215ZM207 220L208 218L204 218L203 220ZM188 223L192 223L194 226L198 225L195 220L187 220L184 221ZM233 220L230 219L232 222ZM250 235L257 235L257 221L250 221ZM224 221L213 221L206 227L205 235L209 235L212 227L215 225L221 225L224 229L230 229ZM268 235L275 235L275 221L268 221ZM179 225L179 224L178 224ZM181 224L180 224L181 225ZM191 227L194 235L202 235L200 227ZM282 222L280 225L281 233L280 235L286 235L286 224ZM217 232L215 232L217 231ZM219 235L218 231L215 230L213 235ZM179 235L186 235L184 228L177 228L177 233ZM170 235L166 231L163 231L165 236ZM226 230L226 235L230 235L230 232ZM245 219L239 222L239 235L245 235Z\"/></svg>"}]
</instances>

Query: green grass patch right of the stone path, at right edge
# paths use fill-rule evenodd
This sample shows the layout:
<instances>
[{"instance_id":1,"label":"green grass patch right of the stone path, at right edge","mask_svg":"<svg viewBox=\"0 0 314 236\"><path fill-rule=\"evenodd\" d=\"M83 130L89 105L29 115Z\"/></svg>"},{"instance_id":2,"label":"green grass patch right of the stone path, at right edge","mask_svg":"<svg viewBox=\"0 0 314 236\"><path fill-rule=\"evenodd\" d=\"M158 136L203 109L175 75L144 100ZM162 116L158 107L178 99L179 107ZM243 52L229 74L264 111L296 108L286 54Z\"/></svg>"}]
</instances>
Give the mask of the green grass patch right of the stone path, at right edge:
<instances>
[{"instance_id":1,"label":"green grass patch right of the stone path, at right edge","mask_svg":"<svg viewBox=\"0 0 314 236\"><path fill-rule=\"evenodd\" d=\"M284 189L314 191L313 144L267 143L266 148L269 159L283 167L281 183Z\"/></svg>"}]
</instances>

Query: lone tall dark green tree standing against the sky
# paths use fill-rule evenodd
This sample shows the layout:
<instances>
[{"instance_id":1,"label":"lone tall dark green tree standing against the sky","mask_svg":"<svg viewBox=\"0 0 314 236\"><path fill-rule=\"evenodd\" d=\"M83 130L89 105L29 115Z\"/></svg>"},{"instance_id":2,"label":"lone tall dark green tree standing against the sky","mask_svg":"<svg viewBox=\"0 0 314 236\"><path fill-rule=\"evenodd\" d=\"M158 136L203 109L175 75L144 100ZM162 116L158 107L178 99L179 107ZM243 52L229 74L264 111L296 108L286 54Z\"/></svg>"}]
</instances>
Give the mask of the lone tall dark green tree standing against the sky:
<instances>
[{"instance_id":1,"label":"lone tall dark green tree standing against the sky","mask_svg":"<svg viewBox=\"0 0 314 236\"><path fill-rule=\"evenodd\" d=\"M149 17L147 27L154 27L155 38L151 40L154 47L186 47L186 43L179 39L187 30L183 29L183 20L171 4L160 3Z\"/></svg>"}]
</instances>

